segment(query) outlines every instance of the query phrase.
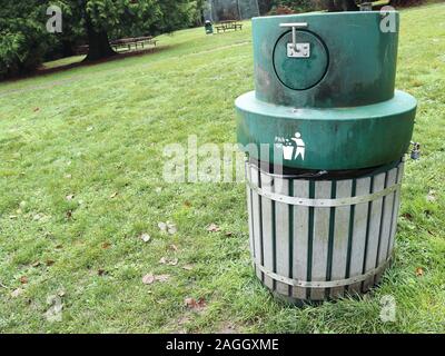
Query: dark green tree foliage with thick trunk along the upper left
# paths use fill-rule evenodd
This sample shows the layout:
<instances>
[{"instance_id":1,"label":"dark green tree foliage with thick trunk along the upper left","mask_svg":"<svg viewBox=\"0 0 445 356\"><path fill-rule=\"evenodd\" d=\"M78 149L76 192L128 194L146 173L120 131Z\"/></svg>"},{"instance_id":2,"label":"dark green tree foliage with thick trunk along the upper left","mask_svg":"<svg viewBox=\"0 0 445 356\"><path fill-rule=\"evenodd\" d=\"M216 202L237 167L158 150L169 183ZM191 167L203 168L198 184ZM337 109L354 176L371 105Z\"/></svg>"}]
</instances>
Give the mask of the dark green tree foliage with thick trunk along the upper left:
<instances>
[{"instance_id":1,"label":"dark green tree foliage with thick trunk along the upper left","mask_svg":"<svg viewBox=\"0 0 445 356\"><path fill-rule=\"evenodd\" d=\"M204 0L0 0L0 79L34 70L43 59L72 55L88 43L86 60L117 55L110 38L159 34L197 21ZM62 10L62 32L49 33L47 9Z\"/></svg>"}]
</instances>

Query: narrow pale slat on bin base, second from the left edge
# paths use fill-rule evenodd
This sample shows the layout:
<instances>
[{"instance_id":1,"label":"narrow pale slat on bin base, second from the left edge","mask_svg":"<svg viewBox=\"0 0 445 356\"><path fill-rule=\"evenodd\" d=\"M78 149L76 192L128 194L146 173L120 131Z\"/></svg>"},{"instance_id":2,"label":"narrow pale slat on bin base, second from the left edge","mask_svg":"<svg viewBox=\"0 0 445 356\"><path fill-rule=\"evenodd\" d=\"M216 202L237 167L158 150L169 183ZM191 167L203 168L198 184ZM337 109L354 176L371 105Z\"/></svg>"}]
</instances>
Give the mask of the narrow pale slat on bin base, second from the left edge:
<instances>
[{"instance_id":1,"label":"narrow pale slat on bin base, second from the left edge","mask_svg":"<svg viewBox=\"0 0 445 356\"><path fill-rule=\"evenodd\" d=\"M273 178L260 172L261 189L265 192L271 192ZM274 271L274 235L273 231L273 201L261 197L261 224L263 224L263 263L267 270ZM264 276L264 284L274 289L274 279Z\"/></svg>"}]
</instances>

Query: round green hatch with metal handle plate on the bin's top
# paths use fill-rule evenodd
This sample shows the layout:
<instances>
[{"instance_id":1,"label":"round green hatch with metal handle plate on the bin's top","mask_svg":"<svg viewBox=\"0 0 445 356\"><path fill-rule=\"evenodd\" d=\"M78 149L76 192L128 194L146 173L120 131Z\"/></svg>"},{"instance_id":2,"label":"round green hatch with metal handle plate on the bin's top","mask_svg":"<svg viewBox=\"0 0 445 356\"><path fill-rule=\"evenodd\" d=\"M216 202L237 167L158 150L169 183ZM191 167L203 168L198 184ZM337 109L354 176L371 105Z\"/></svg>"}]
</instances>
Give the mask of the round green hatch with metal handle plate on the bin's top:
<instances>
[{"instance_id":1,"label":"round green hatch with metal handle plate on the bin's top","mask_svg":"<svg viewBox=\"0 0 445 356\"><path fill-rule=\"evenodd\" d=\"M293 50L291 31L275 44L274 68L283 85L293 90L307 90L326 75L329 56L325 43L309 31L297 30L297 52Z\"/></svg>"}]
</instances>

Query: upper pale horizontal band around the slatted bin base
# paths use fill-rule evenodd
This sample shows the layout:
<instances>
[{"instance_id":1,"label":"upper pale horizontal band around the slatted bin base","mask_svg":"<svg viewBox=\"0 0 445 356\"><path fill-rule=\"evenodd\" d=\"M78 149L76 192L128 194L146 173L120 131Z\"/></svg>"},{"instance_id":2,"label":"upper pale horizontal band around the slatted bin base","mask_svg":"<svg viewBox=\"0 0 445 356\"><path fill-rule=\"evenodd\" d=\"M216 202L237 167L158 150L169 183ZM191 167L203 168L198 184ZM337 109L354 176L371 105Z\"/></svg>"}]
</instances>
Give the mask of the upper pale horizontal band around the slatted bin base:
<instances>
[{"instance_id":1,"label":"upper pale horizontal band around the slatted bin base","mask_svg":"<svg viewBox=\"0 0 445 356\"><path fill-rule=\"evenodd\" d=\"M273 191L265 191L261 188L253 185L249 180L247 180L247 185L250 187L250 189L253 189L264 198L288 205L314 207L314 208L335 208L335 207L352 206L352 205L374 201L390 195L402 186L402 184L395 184L394 186L390 186L384 190L359 197L347 197L337 199L309 199L309 198L289 197Z\"/></svg>"}]
</instances>

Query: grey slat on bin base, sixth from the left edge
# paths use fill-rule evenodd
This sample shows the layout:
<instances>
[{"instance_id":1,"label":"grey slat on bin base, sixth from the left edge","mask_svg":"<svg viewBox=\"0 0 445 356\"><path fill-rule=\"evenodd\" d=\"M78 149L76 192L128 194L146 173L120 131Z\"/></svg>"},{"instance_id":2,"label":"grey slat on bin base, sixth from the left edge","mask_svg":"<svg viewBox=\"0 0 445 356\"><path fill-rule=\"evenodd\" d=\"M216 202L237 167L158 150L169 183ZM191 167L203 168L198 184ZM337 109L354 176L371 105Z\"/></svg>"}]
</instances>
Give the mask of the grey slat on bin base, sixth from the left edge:
<instances>
[{"instance_id":1,"label":"grey slat on bin base, sixth from the left edge","mask_svg":"<svg viewBox=\"0 0 445 356\"><path fill-rule=\"evenodd\" d=\"M352 196L353 180L337 181L336 197L347 198ZM349 217L350 206L338 207L335 209L335 229L334 229L334 250L330 280L346 278L346 264L349 238ZM332 288L333 298L342 297L345 287Z\"/></svg>"}]
</instances>

